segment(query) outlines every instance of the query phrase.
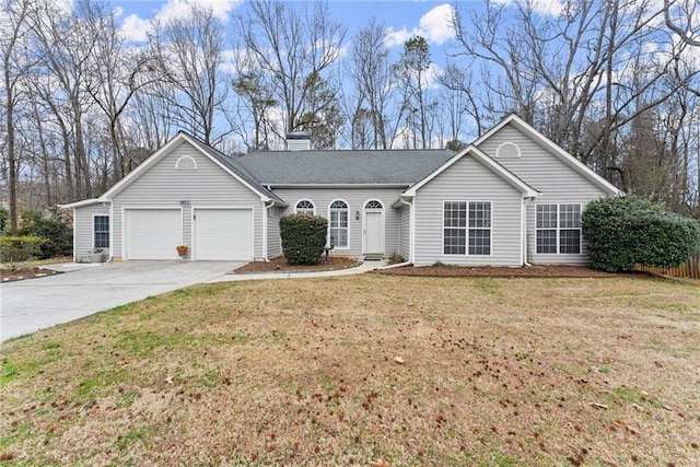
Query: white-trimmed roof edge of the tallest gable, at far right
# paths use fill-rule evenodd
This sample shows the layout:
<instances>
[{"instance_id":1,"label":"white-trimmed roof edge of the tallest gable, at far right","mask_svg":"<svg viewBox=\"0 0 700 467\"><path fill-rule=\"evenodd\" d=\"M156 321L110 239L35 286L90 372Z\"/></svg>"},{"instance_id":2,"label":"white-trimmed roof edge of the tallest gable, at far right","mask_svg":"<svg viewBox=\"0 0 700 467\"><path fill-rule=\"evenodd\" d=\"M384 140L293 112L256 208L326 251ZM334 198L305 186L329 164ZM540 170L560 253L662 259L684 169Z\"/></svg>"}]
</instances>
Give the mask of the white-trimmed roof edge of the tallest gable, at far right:
<instances>
[{"instance_id":1,"label":"white-trimmed roof edge of the tallest gable, at far right","mask_svg":"<svg viewBox=\"0 0 700 467\"><path fill-rule=\"evenodd\" d=\"M480 147L485 141L493 137L495 133L501 131L505 126L513 126L515 129L524 133L527 138L532 139L539 145L544 147L550 154L555 157L563 162L569 168L573 170L579 175L583 176L586 180L602 189L608 195L621 195L622 190L617 188L615 185L593 172L587 165L579 161L573 155L569 154L567 151L561 149L557 143L551 141L549 138L537 131L530 125L528 125L525 120L516 116L515 114L511 114L501 120L497 126L487 131L483 136L478 138L472 144L475 147Z\"/></svg>"}]
</instances>

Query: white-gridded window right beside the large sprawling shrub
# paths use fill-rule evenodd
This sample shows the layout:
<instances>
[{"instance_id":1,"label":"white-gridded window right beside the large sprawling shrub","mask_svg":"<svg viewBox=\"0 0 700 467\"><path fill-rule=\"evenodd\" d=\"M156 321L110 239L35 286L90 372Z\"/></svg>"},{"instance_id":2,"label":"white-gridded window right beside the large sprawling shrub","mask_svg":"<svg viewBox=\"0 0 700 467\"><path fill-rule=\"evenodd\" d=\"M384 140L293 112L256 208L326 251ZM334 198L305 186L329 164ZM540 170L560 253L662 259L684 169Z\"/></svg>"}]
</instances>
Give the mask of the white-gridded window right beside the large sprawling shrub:
<instances>
[{"instance_id":1,"label":"white-gridded window right beside the large sprawling shrub","mask_svg":"<svg viewBox=\"0 0 700 467\"><path fill-rule=\"evenodd\" d=\"M537 253L581 253L581 205L537 205Z\"/></svg>"}]
</instances>

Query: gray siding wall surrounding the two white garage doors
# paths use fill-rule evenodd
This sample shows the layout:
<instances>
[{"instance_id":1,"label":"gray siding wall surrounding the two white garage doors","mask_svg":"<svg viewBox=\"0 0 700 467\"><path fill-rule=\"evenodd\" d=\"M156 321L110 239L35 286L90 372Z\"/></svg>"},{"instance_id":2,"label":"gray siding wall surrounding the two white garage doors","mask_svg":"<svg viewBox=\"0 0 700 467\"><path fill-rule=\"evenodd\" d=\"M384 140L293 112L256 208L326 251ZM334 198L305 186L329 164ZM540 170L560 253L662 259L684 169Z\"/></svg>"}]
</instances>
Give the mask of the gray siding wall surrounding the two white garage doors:
<instances>
[{"instance_id":1,"label":"gray siding wall surrounding the two white garage doors","mask_svg":"<svg viewBox=\"0 0 700 467\"><path fill-rule=\"evenodd\" d=\"M175 163L188 155L197 163L195 171L177 171ZM188 203L180 203L188 201ZM192 244L192 209L253 208L254 257L262 256L264 202L260 197L205 156L183 142L154 166L132 182L113 200L113 255L122 256L122 214L129 208L183 208L183 242ZM173 245L175 248L175 245Z\"/></svg>"}]
</instances>

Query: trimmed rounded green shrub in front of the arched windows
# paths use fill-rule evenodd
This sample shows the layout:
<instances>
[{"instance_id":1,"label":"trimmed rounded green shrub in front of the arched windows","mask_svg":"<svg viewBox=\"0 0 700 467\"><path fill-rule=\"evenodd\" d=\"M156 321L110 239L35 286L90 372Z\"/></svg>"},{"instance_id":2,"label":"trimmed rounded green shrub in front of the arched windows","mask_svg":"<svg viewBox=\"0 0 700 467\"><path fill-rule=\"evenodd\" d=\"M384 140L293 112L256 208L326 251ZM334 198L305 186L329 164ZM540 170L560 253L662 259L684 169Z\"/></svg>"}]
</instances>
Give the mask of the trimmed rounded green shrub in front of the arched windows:
<instances>
[{"instance_id":1,"label":"trimmed rounded green shrub in front of the arched windows","mask_svg":"<svg viewBox=\"0 0 700 467\"><path fill-rule=\"evenodd\" d=\"M282 250L290 265L315 265L326 246L328 221L318 215L291 214L280 219Z\"/></svg>"}]
</instances>

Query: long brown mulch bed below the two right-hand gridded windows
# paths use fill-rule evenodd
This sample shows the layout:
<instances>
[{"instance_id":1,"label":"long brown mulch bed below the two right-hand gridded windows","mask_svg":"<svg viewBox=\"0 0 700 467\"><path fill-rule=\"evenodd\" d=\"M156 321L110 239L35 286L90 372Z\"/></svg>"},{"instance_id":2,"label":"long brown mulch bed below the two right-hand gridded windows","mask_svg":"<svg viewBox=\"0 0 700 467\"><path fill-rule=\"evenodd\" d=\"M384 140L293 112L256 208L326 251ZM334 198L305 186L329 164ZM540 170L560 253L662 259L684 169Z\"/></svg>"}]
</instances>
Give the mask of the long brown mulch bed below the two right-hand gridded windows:
<instances>
[{"instance_id":1,"label":"long brown mulch bed below the two right-hand gridded windows","mask_svg":"<svg viewBox=\"0 0 700 467\"><path fill-rule=\"evenodd\" d=\"M495 278L606 278L619 277L596 271L585 266L542 265L520 268L479 266L402 266L375 271L380 275L424 276L424 277L495 277Z\"/></svg>"}]
</instances>

